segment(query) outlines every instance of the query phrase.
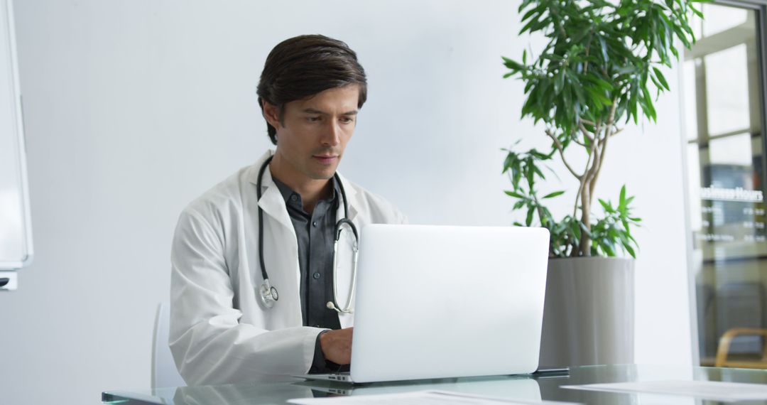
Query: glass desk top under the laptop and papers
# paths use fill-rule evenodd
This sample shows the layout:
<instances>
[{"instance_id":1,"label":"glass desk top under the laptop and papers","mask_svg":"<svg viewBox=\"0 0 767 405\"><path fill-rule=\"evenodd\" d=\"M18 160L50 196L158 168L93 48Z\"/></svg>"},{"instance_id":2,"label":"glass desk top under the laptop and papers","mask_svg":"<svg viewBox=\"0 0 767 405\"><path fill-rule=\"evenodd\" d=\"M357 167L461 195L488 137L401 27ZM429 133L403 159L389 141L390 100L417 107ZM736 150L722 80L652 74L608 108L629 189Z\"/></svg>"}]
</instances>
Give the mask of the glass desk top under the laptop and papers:
<instances>
[{"instance_id":1,"label":"glass desk top under the laptop and papers","mask_svg":"<svg viewBox=\"0 0 767 405\"><path fill-rule=\"evenodd\" d=\"M540 402L541 400L587 404L713 404L716 401L693 397L650 393L607 393L561 388L561 385L597 384L625 381L709 380L767 384L767 370L715 367L668 367L636 364L573 367L567 375L542 377L497 376L417 380L400 383L377 383L351 386L332 382L308 382L285 379L249 384L227 384L198 387L158 388L146 391L105 391L104 403L174 405L226 405L285 403L292 398L328 397L334 395L370 395L404 393L416 390L448 390L462 393L505 397L509 400ZM763 402L738 402L738 405Z\"/></svg>"}]
</instances>

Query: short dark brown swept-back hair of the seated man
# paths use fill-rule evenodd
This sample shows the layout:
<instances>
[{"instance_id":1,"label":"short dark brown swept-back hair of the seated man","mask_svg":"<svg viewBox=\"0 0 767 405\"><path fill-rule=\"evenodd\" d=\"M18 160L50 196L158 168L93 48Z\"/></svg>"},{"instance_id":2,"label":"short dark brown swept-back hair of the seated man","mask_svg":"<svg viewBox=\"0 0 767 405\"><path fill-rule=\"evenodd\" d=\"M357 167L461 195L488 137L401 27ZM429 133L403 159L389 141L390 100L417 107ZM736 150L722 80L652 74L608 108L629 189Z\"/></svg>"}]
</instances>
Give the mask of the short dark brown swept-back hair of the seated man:
<instances>
[{"instance_id":1,"label":"short dark brown swept-back hair of the seated man","mask_svg":"<svg viewBox=\"0 0 767 405\"><path fill-rule=\"evenodd\" d=\"M282 122L285 104L347 84L360 85L357 108L367 99L365 70L347 44L324 35L301 35L280 42L269 52L258 82L258 105L277 107ZM277 130L268 122L269 139L277 144Z\"/></svg>"}]
</instances>

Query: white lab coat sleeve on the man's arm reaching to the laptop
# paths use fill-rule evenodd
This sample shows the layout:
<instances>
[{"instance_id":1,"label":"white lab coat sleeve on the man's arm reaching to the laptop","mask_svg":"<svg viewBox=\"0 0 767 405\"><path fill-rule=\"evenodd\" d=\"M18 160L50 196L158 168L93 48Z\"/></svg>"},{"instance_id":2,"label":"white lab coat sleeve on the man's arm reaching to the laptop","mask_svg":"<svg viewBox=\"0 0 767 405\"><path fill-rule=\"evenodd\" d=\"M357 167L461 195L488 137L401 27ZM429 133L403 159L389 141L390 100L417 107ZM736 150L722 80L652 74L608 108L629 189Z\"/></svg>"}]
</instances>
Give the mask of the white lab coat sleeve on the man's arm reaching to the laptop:
<instances>
[{"instance_id":1,"label":"white lab coat sleeve on the man's arm reaching to the laptop","mask_svg":"<svg viewBox=\"0 0 767 405\"><path fill-rule=\"evenodd\" d=\"M169 336L176 367L186 384L229 384L307 373L322 330L267 331L239 323L242 313L232 306L234 291L223 252L221 227L186 209L171 251Z\"/></svg>"}]
</instances>

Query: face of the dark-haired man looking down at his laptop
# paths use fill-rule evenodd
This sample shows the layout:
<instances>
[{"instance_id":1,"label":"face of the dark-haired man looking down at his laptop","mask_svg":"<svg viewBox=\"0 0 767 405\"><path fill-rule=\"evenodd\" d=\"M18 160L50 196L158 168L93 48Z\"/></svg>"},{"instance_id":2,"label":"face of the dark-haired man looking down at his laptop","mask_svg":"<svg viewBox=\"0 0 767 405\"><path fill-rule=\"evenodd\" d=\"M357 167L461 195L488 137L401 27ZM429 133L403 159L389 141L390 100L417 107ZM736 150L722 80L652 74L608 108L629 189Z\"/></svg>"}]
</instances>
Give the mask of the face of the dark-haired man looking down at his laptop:
<instances>
[{"instance_id":1,"label":"face of the dark-haired man looking down at his laptop","mask_svg":"<svg viewBox=\"0 0 767 405\"><path fill-rule=\"evenodd\" d=\"M277 129L275 158L285 174L304 181L333 176L354 133L359 95L359 85L349 84L291 101L282 122L277 108L265 103L265 117Z\"/></svg>"}]
</instances>

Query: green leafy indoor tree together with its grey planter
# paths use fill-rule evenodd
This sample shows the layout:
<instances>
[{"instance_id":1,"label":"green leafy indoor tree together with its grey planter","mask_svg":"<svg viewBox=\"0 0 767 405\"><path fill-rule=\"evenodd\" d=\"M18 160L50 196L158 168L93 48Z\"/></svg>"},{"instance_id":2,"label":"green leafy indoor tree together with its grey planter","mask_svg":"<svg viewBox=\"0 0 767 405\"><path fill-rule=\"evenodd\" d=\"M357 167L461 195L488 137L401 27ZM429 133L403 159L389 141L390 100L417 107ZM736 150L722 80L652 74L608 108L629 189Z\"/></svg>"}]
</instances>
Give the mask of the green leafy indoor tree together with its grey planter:
<instances>
[{"instance_id":1,"label":"green leafy indoor tree together with its grey planter","mask_svg":"<svg viewBox=\"0 0 767 405\"><path fill-rule=\"evenodd\" d=\"M503 173L525 212L525 226L551 232L542 337L542 366L631 363L634 356L634 262L637 241L631 229L626 186L617 202L595 199L607 147L622 125L640 113L656 120L655 97L670 87L660 70L679 58L675 41L690 48L695 37L691 13L698 0L523 0L523 34L548 39L533 57L503 58L509 72L525 83L522 117L542 122L551 149L505 150ZM583 166L571 157L581 153ZM545 203L566 196L542 193L547 163L560 160L578 180L571 215L555 218ZM598 202L601 216L592 208ZM517 225L522 225L517 223Z\"/></svg>"}]
</instances>

